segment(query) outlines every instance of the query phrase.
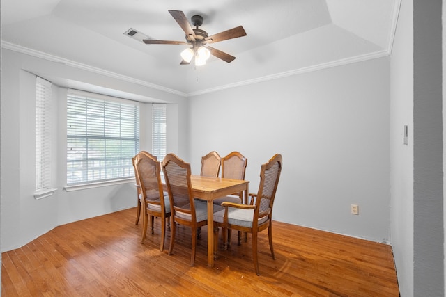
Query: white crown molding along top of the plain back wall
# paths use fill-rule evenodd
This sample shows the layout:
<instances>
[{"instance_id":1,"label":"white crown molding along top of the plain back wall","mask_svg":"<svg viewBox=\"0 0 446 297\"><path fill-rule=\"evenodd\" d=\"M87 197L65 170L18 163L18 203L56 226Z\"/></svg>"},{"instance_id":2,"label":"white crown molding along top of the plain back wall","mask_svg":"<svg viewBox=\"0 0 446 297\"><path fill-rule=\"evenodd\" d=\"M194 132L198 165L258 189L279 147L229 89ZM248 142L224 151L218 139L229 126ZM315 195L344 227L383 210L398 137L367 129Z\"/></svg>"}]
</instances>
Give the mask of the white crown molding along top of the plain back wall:
<instances>
[{"instance_id":1,"label":"white crown molding along top of the plain back wall","mask_svg":"<svg viewBox=\"0 0 446 297\"><path fill-rule=\"evenodd\" d=\"M217 92L219 90L226 90L226 89L229 89L229 88L236 88L236 87L240 87L240 86L247 86L247 85L251 85L253 83L261 83L263 81L272 81L274 79L281 79L283 77L291 77L291 76L296 75L296 74L313 72L313 71L316 71L316 70L323 70L323 69L326 69L326 68L337 67L337 66L341 66L341 65L367 61L367 60L371 60L371 59L375 59L375 58L382 58L384 56L389 56L389 51L384 49L382 51L376 51L376 52L371 53L371 54L364 54L364 55L360 55L360 56L354 56L354 57L350 57L350 58L339 59L337 61L330 61L328 63L321 63L321 64L318 64L318 65L312 65L312 66L309 66L309 67L302 67L302 68L299 68L299 69L290 70L290 71L286 71L286 72L279 72L279 73L276 73L276 74L267 75L265 77L258 77L256 79L247 79L246 81L239 81L237 83L229 83L229 84L224 85L224 86L217 86L215 88L208 88L206 90L198 90L196 92L187 93L187 97L203 95L203 94L207 94L207 93L213 93L213 92Z\"/></svg>"}]
</instances>

